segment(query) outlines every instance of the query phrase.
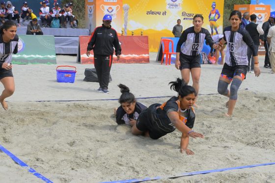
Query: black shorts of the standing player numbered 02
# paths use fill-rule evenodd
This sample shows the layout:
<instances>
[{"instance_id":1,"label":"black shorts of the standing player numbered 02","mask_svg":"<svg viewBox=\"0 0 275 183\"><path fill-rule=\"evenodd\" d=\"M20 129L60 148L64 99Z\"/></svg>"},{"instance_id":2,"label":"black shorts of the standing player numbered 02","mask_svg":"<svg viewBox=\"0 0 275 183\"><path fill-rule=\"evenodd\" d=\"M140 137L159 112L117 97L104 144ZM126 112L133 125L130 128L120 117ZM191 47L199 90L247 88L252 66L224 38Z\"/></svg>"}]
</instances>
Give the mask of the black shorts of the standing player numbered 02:
<instances>
[{"instance_id":1,"label":"black shorts of the standing player numbered 02","mask_svg":"<svg viewBox=\"0 0 275 183\"><path fill-rule=\"evenodd\" d=\"M180 70L200 68L200 54L190 56L180 52Z\"/></svg>"}]
</instances>

